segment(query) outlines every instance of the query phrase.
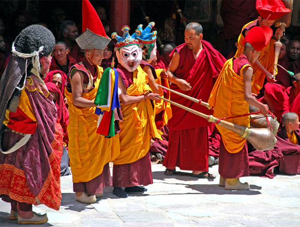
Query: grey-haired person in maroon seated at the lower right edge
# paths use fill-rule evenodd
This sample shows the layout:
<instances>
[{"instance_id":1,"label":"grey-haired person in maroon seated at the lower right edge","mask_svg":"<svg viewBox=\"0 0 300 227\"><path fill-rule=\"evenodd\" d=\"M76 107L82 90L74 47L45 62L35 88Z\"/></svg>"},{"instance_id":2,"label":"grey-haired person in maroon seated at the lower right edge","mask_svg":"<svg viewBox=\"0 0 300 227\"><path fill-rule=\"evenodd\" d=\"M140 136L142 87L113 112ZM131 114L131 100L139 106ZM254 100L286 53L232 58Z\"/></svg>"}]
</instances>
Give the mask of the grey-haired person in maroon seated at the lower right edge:
<instances>
[{"instance_id":1,"label":"grey-haired person in maroon seated at the lower right edge","mask_svg":"<svg viewBox=\"0 0 300 227\"><path fill-rule=\"evenodd\" d=\"M277 132L275 148L280 148L283 159L279 162L279 173L300 173L300 130L299 118L294 112L282 116L283 127Z\"/></svg>"}]
</instances>

